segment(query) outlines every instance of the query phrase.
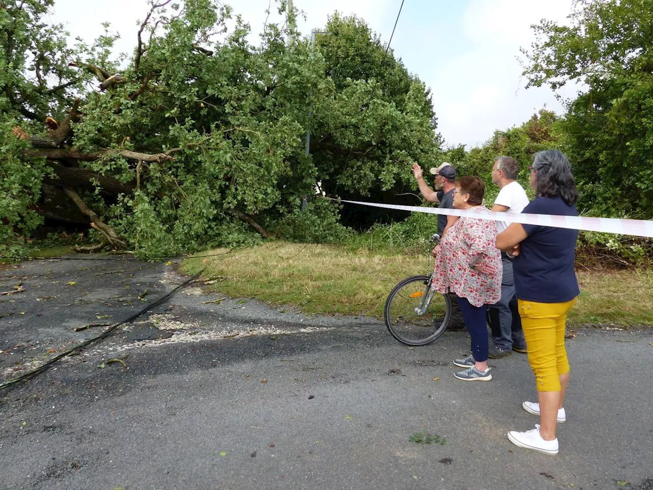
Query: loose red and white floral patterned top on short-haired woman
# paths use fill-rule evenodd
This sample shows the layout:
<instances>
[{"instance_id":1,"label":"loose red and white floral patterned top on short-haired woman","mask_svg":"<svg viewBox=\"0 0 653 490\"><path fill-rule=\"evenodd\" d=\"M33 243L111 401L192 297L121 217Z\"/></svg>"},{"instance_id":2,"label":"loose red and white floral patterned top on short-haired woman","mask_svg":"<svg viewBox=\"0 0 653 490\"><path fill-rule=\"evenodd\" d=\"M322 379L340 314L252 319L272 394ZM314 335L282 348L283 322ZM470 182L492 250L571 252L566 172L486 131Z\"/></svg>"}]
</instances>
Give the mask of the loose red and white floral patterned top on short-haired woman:
<instances>
[{"instance_id":1,"label":"loose red and white floral patterned top on short-haired woman","mask_svg":"<svg viewBox=\"0 0 653 490\"><path fill-rule=\"evenodd\" d=\"M476 212L489 212L485 206L473 206ZM440 241L433 271L432 289L466 298L473 306L494 304L501 298L503 275L501 252L495 246L496 224L461 216ZM471 269L479 263L494 267L483 274Z\"/></svg>"}]
</instances>

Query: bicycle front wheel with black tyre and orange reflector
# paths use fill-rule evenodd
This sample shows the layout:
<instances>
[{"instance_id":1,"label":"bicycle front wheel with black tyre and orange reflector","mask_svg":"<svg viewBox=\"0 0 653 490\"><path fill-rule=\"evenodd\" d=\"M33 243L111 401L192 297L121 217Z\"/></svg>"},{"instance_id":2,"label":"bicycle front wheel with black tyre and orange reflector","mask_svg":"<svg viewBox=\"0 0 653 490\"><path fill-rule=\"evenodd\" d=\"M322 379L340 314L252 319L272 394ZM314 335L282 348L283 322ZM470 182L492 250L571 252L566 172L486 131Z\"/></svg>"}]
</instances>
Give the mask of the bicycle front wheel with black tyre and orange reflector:
<instances>
[{"instance_id":1,"label":"bicycle front wheel with black tyre and orange reflector","mask_svg":"<svg viewBox=\"0 0 653 490\"><path fill-rule=\"evenodd\" d=\"M434 293L426 311L424 302L430 289L430 276L413 276L394 286L383 308L385 326L407 346L425 346L447 328L451 301L447 295Z\"/></svg>"}]
</instances>

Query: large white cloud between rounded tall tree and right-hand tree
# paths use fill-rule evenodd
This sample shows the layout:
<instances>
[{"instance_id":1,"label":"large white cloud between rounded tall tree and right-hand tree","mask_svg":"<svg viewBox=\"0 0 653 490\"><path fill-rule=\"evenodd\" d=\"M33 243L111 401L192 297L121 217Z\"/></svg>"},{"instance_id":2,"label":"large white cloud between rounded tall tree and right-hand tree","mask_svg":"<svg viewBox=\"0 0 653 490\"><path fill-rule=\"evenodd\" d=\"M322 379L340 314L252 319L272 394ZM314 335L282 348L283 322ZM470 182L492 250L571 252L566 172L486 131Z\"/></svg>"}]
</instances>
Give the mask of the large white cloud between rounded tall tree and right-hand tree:
<instances>
[{"instance_id":1,"label":"large white cloud between rounded tall tree and right-hand tree","mask_svg":"<svg viewBox=\"0 0 653 490\"><path fill-rule=\"evenodd\" d=\"M447 144L462 142L468 148L483 144L495 129L525 122L544 105L563 111L550 90L524 88L517 56L521 46L528 47L534 40L531 24L542 18L564 22L571 3L470 1L458 40L468 47L439 67L432 80L426 80L434 91L439 131Z\"/></svg>"}]
</instances>

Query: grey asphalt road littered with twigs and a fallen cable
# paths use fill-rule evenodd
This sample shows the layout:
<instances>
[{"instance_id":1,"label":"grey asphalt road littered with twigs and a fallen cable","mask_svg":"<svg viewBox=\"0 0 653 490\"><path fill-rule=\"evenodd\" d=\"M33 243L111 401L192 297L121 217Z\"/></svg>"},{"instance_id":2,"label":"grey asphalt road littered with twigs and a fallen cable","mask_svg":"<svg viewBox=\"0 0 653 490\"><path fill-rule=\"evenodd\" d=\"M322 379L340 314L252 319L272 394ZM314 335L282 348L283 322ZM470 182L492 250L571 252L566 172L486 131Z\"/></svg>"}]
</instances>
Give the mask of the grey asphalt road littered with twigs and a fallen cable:
<instances>
[{"instance_id":1,"label":"grey asphalt road littered with twigs and a fallen cable","mask_svg":"<svg viewBox=\"0 0 653 490\"><path fill-rule=\"evenodd\" d=\"M123 319L183 280L124 259L0 272L0 291L24 289L0 297L0 382L106 328L74 327ZM526 355L461 382L464 333L408 348L375 319L201 286L0 391L0 489L653 490L650 331L567 341L567 422L549 456L505 435L537 422L521 408L535 399Z\"/></svg>"}]
</instances>

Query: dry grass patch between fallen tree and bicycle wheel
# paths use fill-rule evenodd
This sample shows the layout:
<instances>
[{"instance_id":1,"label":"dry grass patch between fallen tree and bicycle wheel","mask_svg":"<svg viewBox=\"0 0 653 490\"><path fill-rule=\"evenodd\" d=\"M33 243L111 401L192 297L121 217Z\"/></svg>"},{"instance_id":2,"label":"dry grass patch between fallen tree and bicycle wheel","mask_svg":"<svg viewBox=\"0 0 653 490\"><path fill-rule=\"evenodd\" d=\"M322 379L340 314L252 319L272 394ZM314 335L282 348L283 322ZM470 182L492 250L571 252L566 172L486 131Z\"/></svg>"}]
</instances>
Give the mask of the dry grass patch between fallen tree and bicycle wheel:
<instances>
[{"instance_id":1,"label":"dry grass patch between fallen tree and bicycle wheel","mask_svg":"<svg viewBox=\"0 0 653 490\"><path fill-rule=\"evenodd\" d=\"M336 245L286 242L189 259L183 265L190 273L205 266L204 277L217 276L218 282L212 287L231 297L299 306L306 313L378 317L398 278L425 273L430 267L426 257L348 252Z\"/></svg>"}]
</instances>

